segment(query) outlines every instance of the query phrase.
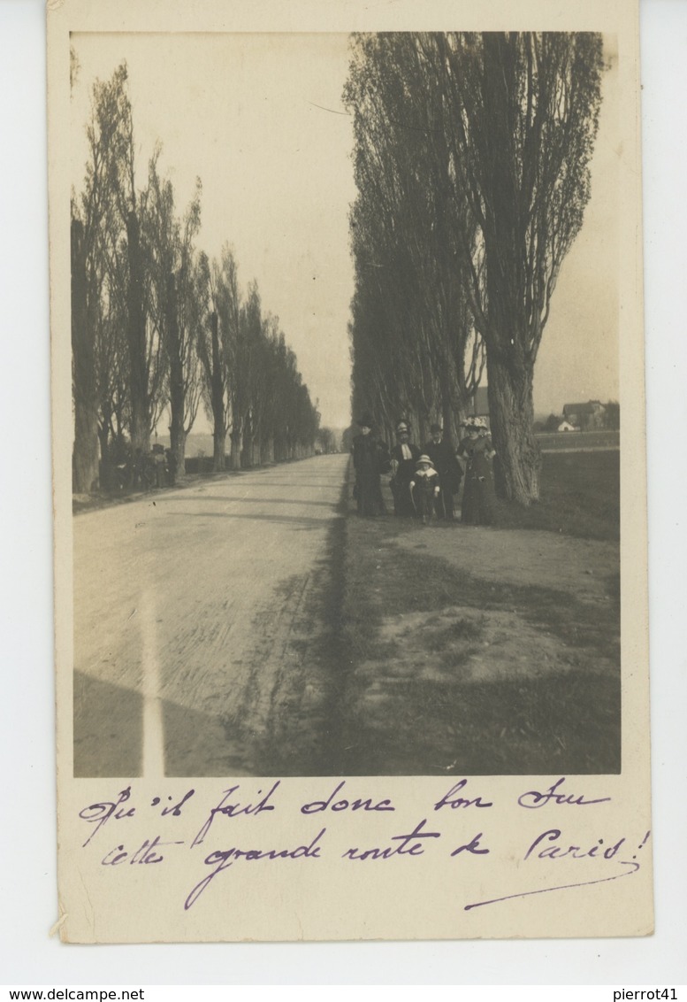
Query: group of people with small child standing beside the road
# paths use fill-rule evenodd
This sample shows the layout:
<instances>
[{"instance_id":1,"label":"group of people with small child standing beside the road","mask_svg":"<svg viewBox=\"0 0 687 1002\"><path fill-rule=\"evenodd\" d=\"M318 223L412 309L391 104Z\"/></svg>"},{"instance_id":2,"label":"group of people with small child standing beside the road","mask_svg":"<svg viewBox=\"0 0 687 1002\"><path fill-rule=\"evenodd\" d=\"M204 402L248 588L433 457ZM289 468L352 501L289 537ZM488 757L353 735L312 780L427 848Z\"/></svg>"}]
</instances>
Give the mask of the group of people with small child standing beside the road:
<instances>
[{"instance_id":1,"label":"group of people with small child standing beside the road","mask_svg":"<svg viewBox=\"0 0 687 1002\"><path fill-rule=\"evenodd\" d=\"M463 482L461 520L469 525L493 523L496 451L483 418L468 418L461 426L466 434L458 449L445 440L441 425L432 425L432 438L421 450L411 441L408 422L399 421L397 442L390 450L375 434L370 415L363 415L357 424L354 497L360 515L386 514L382 476L391 474L395 515L420 518L424 523L435 517L454 519L454 498Z\"/></svg>"}]
</instances>

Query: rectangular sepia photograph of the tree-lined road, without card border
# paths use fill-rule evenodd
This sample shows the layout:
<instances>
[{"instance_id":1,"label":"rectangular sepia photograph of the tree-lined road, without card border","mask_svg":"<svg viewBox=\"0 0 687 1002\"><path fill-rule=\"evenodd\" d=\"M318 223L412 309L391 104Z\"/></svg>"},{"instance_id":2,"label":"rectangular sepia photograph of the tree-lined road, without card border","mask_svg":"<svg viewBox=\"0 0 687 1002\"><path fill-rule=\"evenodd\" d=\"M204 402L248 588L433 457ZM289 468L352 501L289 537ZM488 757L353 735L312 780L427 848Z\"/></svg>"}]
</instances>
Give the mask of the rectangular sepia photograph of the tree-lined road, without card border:
<instances>
[{"instance_id":1,"label":"rectangular sepia photograph of the tree-lined road, without card border","mask_svg":"<svg viewBox=\"0 0 687 1002\"><path fill-rule=\"evenodd\" d=\"M621 773L621 58L71 35L75 778Z\"/></svg>"}]
</instances>

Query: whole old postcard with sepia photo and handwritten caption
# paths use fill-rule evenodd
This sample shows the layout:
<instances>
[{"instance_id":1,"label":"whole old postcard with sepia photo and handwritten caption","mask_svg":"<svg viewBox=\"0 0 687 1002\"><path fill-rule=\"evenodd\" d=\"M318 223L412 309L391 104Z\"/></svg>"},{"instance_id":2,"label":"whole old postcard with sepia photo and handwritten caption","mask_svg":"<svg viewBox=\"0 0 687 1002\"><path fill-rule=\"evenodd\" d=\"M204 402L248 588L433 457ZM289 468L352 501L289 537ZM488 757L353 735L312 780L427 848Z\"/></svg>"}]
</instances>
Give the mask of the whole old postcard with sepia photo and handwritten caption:
<instances>
[{"instance_id":1,"label":"whole old postcard with sepia photo and handwritten caption","mask_svg":"<svg viewBox=\"0 0 687 1002\"><path fill-rule=\"evenodd\" d=\"M47 17L63 941L650 934L636 5Z\"/></svg>"}]
</instances>

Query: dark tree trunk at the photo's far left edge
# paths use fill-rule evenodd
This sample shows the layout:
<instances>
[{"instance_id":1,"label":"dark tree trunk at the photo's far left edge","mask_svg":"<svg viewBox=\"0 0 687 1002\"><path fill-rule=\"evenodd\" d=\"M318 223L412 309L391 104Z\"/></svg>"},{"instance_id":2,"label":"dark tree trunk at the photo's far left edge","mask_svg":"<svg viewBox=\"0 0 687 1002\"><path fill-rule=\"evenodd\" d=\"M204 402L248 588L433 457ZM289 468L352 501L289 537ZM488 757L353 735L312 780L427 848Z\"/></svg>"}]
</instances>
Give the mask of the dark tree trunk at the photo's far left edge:
<instances>
[{"instance_id":1,"label":"dark tree trunk at the photo's far left edge","mask_svg":"<svg viewBox=\"0 0 687 1002\"><path fill-rule=\"evenodd\" d=\"M88 323L83 223L71 223L71 347L74 387L73 489L93 490L98 481L98 402L93 332Z\"/></svg>"}]
</instances>

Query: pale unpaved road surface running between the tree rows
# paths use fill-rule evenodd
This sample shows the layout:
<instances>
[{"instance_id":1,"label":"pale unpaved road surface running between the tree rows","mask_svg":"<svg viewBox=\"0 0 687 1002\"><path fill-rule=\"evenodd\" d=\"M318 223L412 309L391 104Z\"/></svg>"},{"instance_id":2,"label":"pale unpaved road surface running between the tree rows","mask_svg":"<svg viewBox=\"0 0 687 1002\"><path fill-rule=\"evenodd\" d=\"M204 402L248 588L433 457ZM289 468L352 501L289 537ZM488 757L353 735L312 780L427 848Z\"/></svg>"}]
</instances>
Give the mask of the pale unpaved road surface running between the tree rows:
<instances>
[{"instance_id":1,"label":"pale unpaved road surface running between the tree rows","mask_svg":"<svg viewBox=\"0 0 687 1002\"><path fill-rule=\"evenodd\" d=\"M330 775L347 466L320 456L74 519L75 776Z\"/></svg>"}]
</instances>

